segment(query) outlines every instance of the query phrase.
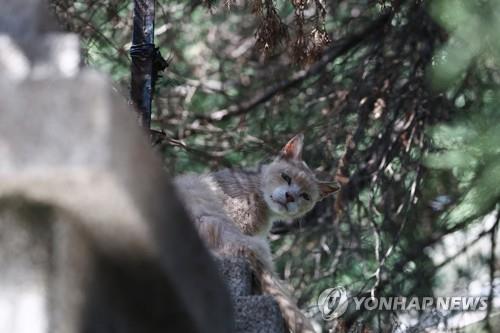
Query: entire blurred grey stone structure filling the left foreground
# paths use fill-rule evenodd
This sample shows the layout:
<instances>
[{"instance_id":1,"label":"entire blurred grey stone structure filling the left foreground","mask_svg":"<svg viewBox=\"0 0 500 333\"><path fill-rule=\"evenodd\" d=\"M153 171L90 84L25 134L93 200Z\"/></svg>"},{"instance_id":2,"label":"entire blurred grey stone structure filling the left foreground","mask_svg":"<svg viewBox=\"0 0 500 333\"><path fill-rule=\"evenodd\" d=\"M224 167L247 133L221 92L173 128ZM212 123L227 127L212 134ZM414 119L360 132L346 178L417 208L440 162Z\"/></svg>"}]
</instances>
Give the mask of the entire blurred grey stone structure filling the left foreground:
<instances>
[{"instance_id":1,"label":"entire blurred grey stone structure filling the left foreground","mask_svg":"<svg viewBox=\"0 0 500 333\"><path fill-rule=\"evenodd\" d=\"M242 294L241 261L217 269L133 112L50 23L41 0L0 0L0 332L275 331L272 299Z\"/></svg>"}]
</instances>

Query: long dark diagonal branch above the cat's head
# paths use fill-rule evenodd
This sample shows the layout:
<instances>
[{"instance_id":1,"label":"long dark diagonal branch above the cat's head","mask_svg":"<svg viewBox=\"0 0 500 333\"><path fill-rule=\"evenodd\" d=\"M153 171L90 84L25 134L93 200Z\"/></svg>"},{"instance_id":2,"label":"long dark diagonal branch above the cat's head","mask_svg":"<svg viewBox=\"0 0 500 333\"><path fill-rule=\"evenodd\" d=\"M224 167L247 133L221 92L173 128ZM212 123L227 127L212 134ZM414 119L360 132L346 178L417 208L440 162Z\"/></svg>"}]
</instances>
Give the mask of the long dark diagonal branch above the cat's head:
<instances>
[{"instance_id":1,"label":"long dark diagonal branch above the cat's head","mask_svg":"<svg viewBox=\"0 0 500 333\"><path fill-rule=\"evenodd\" d=\"M301 70L292 75L289 80L283 80L273 87L265 90L264 92L253 97L249 101L233 104L226 109L212 112L210 115L200 116L200 118L213 122L219 120L225 120L229 117L239 116L245 114L256 106L269 101L276 94L285 92L293 87L300 85L304 80L319 74L324 67L326 67L333 60L349 52L352 48L357 46L360 42L364 41L366 38L372 36L374 33L382 29L387 22L390 22L390 18L393 13L387 13L380 16L377 20L369 24L364 30L359 33L353 34L349 38L346 38L343 42L337 43L335 46L330 47L325 51L321 59L314 65L309 67L307 70Z\"/></svg>"}]
</instances>

